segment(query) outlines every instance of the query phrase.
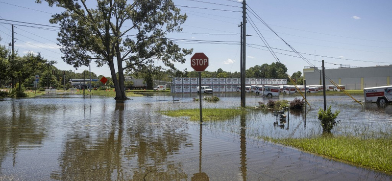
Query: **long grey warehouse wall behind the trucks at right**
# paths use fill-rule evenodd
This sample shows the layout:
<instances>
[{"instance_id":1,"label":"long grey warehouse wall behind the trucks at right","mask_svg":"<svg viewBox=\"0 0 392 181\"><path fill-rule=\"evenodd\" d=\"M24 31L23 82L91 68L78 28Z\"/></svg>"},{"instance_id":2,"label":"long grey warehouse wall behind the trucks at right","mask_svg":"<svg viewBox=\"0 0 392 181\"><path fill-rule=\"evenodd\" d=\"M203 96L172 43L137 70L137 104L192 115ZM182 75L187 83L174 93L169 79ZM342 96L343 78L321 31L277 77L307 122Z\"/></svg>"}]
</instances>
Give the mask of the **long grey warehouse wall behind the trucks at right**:
<instances>
[{"instance_id":1,"label":"long grey warehouse wall behind the trucks at right","mask_svg":"<svg viewBox=\"0 0 392 181\"><path fill-rule=\"evenodd\" d=\"M322 84L320 81L321 68L304 68L303 75L307 85ZM325 76L336 84L346 86L346 90L362 90L368 87L391 85L392 65L364 68L325 69ZM331 84L325 78L325 84Z\"/></svg>"}]
</instances>

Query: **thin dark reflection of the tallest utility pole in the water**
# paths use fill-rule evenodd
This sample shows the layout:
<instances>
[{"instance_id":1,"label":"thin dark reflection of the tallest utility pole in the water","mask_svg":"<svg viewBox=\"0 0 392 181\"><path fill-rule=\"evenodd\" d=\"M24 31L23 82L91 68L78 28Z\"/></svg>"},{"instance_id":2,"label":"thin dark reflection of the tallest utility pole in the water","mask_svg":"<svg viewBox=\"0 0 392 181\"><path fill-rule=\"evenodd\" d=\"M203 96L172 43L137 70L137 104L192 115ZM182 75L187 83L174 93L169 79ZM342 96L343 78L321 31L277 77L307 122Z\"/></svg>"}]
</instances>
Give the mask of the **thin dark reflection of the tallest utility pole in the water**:
<instances>
[{"instance_id":1,"label":"thin dark reflection of the tallest utility pole in the water","mask_svg":"<svg viewBox=\"0 0 392 181\"><path fill-rule=\"evenodd\" d=\"M246 113L241 113L241 175L242 180L246 181Z\"/></svg>"}]
</instances>

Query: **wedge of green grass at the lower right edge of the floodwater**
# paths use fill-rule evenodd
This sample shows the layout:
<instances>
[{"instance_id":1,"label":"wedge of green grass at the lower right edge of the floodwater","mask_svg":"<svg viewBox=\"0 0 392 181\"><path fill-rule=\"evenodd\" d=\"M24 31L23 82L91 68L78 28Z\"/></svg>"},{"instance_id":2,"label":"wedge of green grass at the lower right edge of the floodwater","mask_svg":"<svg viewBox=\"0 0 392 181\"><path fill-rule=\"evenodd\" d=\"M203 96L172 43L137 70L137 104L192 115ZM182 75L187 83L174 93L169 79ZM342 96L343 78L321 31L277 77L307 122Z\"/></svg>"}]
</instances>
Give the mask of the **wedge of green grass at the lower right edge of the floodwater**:
<instances>
[{"instance_id":1,"label":"wedge of green grass at the lower right edge of the floodwater","mask_svg":"<svg viewBox=\"0 0 392 181\"><path fill-rule=\"evenodd\" d=\"M388 137L363 139L355 136L318 136L263 139L392 174L392 140Z\"/></svg>"}]
</instances>

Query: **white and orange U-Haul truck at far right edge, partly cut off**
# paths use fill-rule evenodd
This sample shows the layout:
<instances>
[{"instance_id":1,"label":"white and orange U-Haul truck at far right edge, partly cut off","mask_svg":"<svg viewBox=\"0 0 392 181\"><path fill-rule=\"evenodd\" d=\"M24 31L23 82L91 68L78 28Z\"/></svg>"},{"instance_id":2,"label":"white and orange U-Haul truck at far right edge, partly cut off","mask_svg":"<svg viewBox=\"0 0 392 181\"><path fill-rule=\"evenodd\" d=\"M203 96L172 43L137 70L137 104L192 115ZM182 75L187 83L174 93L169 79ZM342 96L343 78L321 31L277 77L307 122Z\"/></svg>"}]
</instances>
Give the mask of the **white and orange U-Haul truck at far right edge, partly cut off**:
<instances>
[{"instance_id":1,"label":"white and orange U-Haul truck at far right edge, partly cut off","mask_svg":"<svg viewBox=\"0 0 392 181\"><path fill-rule=\"evenodd\" d=\"M392 86L364 89L365 102L387 103L392 101Z\"/></svg>"}]
</instances>

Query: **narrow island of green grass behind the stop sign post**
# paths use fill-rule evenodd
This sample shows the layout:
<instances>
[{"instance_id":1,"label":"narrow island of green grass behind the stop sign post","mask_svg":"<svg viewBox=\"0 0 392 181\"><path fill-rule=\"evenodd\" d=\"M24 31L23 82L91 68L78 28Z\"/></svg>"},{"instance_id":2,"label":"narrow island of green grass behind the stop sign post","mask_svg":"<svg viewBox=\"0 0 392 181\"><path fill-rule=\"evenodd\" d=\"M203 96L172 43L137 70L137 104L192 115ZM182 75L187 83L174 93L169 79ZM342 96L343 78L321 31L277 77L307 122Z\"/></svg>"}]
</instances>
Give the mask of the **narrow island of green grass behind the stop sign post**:
<instances>
[{"instance_id":1,"label":"narrow island of green grass behind the stop sign post","mask_svg":"<svg viewBox=\"0 0 392 181\"><path fill-rule=\"evenodd\" d=\"M169 110L160 111L160 113L172 116L172 117L190 117L191 121L200 120L199 109L184 109L184 110ZM241 113L246 113L245 109L218 109L218 108L206 108L202 109L203 121L218 121L232 119Z\"/></svg>"}]
</instances>

